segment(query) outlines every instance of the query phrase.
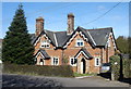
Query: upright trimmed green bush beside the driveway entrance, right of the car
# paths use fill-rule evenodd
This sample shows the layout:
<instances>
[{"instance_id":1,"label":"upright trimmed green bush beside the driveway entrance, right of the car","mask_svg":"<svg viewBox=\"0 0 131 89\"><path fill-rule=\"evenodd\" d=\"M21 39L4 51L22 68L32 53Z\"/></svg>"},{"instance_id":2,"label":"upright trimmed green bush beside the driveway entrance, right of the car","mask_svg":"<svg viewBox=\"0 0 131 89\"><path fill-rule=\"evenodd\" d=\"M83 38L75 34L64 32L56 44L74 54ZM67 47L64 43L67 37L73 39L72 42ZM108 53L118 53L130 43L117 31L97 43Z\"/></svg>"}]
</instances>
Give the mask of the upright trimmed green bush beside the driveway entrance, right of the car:
<instances>
[{"instance_id":1,"label":"upright trimmed green bush beside the driveway entrance, right of the car","mask_svg":"<svg viewBox=\"0 0 131 89\"><path fill-rule=\"evenodd\" d=\"M112 55L110 56L110 64L111 64L111 74L114 74L115 80L120 78L120 56Z\"/></svg>"}]
</instances>

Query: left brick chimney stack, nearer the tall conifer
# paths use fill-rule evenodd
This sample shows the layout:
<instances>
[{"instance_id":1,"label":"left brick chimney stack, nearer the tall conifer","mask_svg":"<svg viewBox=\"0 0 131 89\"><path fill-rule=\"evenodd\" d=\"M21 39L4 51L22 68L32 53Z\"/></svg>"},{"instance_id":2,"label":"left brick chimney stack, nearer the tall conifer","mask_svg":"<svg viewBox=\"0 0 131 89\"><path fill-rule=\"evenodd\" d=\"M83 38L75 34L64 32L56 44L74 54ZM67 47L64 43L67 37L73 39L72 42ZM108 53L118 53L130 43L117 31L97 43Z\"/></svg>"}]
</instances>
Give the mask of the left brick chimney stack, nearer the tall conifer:
<instances>
[{"instance_id":1,"label":"left brick chimney stack, nearer the tall conifer","mask_svg":"<svg viewBox=\"0 0 131 89\"><path fill-rule=\"evenodd\" d=\"M36 33L35 36L37 37L44 30L44 18L39 16L36 18Z\"/></svg>"}]
</instances>

